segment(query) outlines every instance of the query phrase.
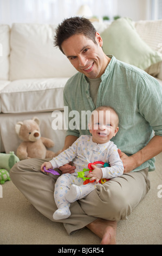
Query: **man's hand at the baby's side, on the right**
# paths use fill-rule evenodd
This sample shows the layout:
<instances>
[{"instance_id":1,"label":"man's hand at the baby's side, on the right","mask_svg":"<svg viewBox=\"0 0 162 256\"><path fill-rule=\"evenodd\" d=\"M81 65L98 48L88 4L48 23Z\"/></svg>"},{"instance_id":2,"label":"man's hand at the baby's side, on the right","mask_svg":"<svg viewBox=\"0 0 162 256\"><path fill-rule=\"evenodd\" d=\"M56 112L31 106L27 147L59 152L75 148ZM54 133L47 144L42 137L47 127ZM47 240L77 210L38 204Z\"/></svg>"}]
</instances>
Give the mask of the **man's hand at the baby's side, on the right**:
<instances>
[{"instance_id":1,"label":"man's hand at the baby's side, on the right","mask_svg":"<svg viewBox=\"0 0 162 256\"><path fill-rule=\"evenodd\" d=\"M120 149L118 149L118 153L124 166L124 173L129 173L137 167L133 155L127 156Z\"/></svg>"}]
</instances>

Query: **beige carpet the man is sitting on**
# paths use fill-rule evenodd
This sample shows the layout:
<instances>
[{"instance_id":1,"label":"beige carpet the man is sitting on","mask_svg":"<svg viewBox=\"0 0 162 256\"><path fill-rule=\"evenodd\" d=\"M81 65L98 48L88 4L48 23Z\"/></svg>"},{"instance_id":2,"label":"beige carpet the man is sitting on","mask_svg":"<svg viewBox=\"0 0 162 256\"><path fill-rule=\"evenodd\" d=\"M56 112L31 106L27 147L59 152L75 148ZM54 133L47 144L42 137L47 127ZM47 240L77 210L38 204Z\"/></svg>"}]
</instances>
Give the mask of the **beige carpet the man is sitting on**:
<instances>
[{"instance_id":1,"label":"beige carpet the man is sitting on","mask_svg":"<svg viewBox=\"0 0 162 256\"><path fill-rule=\"evenodd\" d=\"M117 245L161 245L162 153L156 157L156 170L150 173L151 190L127 221L118 223ZM63 224L42 216L17 190L12 181L2 185L0 198L1 245L99 245L100 239L87 228L69 236ZM160 192L159 192L160 194ZM161 192L162 196L162 192Z\"/></svg>"}]
</instances>

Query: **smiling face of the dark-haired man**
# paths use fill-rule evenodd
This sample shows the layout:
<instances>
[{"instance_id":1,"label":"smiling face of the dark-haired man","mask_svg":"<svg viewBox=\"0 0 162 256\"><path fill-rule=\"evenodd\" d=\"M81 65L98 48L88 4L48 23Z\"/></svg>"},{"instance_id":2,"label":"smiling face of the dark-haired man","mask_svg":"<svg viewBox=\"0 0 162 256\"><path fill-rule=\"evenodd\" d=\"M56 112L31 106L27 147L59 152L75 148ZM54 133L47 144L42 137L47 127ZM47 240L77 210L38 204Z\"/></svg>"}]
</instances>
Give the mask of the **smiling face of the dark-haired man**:
<instances>
[{"instance_id":1,"label":"smiling face of the dark-haired man","mask_svg":"<svg viewBox=\"0 0 162 256\"><path fill-rule=\"evenodd\" d=\"M85 35L75 34L63 41L61 47L74 68L89 78L98 78L105 72L107 56L102 51L102 38L96 33L96 44Z\"/></svg>"}]
</instances>

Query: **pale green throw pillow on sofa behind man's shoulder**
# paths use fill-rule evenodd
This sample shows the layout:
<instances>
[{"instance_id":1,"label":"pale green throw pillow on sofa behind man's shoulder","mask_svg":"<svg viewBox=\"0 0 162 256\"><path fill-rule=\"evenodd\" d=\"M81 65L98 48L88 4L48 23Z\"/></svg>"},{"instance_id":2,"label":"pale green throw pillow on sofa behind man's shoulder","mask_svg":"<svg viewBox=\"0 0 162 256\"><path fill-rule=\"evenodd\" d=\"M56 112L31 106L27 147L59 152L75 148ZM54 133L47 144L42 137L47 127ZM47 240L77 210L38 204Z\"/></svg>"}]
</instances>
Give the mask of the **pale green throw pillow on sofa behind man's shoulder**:
<instances>
[{"instance_id":1,"label":"pale green throw pillow on sofa behind man's shoulder","mask_svg":"<svg viewBox=\"0 0 162 256\"><path fill-rule=\"evenodd\" d=\"M145 70L152 64L161 62L160 54L153 51L142 40L127 18L118 19L101 33L103 51L117 59Z\"/></svg>"}]
</instances>

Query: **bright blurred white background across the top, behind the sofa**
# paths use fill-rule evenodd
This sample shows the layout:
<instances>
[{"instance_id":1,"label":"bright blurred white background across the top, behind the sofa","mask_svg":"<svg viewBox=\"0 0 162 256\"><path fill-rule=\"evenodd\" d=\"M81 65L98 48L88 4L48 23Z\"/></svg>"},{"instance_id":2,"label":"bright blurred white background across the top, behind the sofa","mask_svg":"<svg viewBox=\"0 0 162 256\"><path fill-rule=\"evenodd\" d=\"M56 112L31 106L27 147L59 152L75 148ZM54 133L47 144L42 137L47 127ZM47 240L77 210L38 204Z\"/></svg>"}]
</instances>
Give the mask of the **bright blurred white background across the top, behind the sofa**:
<instances>
[{"instance_id":1,"label":"bright blurred white background across the top, behind the sofa","mask_svg":"<svg viewBox=\"0 0 162 256\"><path fill-rule=\"evenodd\" d=\"M0 23L59 23L87 4L98 17L120 15L148 20L152 0L0 0ZM154 0L158 1L158 0Z\"/></svg>"}]
</instances>

